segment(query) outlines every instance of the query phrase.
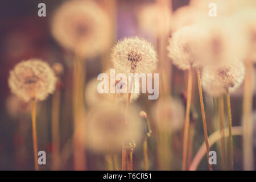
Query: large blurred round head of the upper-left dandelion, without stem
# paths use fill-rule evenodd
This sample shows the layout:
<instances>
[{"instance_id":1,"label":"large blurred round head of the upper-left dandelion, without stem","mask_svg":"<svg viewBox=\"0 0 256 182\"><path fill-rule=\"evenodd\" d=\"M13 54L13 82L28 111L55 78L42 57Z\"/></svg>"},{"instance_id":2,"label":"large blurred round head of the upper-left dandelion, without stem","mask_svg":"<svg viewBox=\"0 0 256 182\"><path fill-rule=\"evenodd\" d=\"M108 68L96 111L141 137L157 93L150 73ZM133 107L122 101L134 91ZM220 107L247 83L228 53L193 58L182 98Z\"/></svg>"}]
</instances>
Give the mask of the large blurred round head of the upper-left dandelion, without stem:
<instances>
[{"instance_id":1,"label":"large blurred round head of the upper-left dandelion, without stem","mask_svg":"<svg viewBox=\"0 0 256 182\"><path fill-rule=\"evenodd\" d=\"M110 45L108 15L93 1L67 1L56 10L52 35L66 49L93 57Z\"/></svg>"}]
</instances>

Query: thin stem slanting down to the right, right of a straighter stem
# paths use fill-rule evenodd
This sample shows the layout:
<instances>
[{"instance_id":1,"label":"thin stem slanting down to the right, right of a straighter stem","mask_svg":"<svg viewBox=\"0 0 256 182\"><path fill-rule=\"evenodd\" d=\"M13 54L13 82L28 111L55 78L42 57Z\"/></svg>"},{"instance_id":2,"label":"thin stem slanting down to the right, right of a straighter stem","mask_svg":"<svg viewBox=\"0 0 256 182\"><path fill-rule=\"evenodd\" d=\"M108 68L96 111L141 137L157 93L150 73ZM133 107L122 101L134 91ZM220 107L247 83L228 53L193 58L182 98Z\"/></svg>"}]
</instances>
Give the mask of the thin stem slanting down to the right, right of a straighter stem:
<instances>
[{"instance_id":1,"label":"thin stem slanting down to the right, right of a straighter stem","mask_svg":"<svg viewBox=\"0 0 256 182\"><path fill-rule=\"evenodd\" d=\"M203 92L202 92L199 68L196 68L196 75L197 75L197 83L198 83L199 96L200 96L201 113L202 113L203 126L204 126L205 146L207 148L207 163L208 163L209 170L212 171L212 165L209 164L209 151L210 151L210 148L209 148L209 142L208 142L207 122L206 122L206 119L205 119L204 100L203 100Z\"/></svg>"}]
</instances>

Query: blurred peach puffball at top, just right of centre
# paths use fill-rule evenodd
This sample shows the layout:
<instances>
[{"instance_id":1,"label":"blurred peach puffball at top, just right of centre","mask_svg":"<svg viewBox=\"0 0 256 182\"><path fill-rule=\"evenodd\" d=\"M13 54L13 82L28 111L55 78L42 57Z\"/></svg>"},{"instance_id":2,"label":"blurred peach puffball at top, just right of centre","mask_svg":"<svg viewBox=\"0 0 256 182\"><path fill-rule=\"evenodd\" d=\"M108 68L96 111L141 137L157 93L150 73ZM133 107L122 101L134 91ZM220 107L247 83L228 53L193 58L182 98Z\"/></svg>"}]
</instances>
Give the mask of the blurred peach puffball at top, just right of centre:
<instances>
[{"instance_id":1,"label":"blurred peach puffball at top, just right of centre","mask_svg":"<svg viewBox=\"0 0 256 182\"><path fill-rule=\"evenodd\" d=\"M167 6L151 4L138 11L138 24L153 35L168 34L171 30L171 10Z\"/></svg>"}]
</instances>

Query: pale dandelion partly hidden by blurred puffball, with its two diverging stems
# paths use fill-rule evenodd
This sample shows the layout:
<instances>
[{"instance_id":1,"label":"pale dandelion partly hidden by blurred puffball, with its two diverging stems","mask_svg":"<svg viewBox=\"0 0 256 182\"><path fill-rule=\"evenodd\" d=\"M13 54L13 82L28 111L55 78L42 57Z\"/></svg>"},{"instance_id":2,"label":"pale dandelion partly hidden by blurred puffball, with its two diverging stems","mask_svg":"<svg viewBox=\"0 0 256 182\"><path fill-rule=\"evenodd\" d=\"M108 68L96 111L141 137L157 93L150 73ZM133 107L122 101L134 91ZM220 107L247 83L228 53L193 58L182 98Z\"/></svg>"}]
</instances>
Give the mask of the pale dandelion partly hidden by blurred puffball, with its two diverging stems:
<instances>
[{"instance_id":1,"label":"pale dandelion partly hidden by blurred puffball, with its two diverging stems","mask_svg":"<svg viewBox=\"0 0 256 182\"><path fill-rule=\"evenodd\" d=\"M204 112L204 102L203 102L203 92L201 90L201 80L199 67L203 64L202 62L195 59L193 54L194 44L200 39L200 36L204 36L207 32L200 27L190 26L183 27L179 31L175 32L174 35L169 40L169 46L167 47L169 53L168 56L172 59L174 63L180 69L188 69L188 86L187 86L187 105L185 113L185 123L184 123L184 136L183 136L183 163L182 169L186 169L187 163L187 148L188 148L188 132L189 132L189 113L191 110L191 94L192 94L192 68L196 68L197 82L199 86L199 96L201 104L201 113L203 118L204 135L205 135L205 145L207 147L207 152L209 153L209 143L207 134L207 123L205 119ZM209 160L209 156L207 155ZM212 166L209 164L209 169L212 170Z\"/></svg>"}]
</instances>

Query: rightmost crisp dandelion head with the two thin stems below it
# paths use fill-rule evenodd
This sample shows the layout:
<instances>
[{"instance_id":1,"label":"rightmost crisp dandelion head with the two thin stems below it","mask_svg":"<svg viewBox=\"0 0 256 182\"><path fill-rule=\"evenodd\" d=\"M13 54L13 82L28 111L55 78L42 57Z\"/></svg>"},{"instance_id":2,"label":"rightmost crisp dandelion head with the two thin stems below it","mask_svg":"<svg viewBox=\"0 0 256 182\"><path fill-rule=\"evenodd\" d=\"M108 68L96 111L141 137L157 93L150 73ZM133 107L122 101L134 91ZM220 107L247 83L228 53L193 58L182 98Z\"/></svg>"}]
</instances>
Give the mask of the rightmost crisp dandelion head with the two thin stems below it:
<instances>
[{"instance_id":1,"label":"rightmost crisp dandelion head with the two thin stems below it","mask_svg":"<svg viewBox=\"0 0 256 182\"><path fill-rule=\"evenodd\" d=\"M226 94L229 116L229 157L230 169L233 169L233 139L232 139L232 116L229 92L234 92L243 82L245 77L245 67L242 61L233 61L220 68L205 67L202 75L202 85L208 94L220 96L220 126L222 132L222 157L225 161L225 140L224 140L224 104L223 94ZM223 163L225 168L225 163Z\"/></svg>"}]
</instances>

